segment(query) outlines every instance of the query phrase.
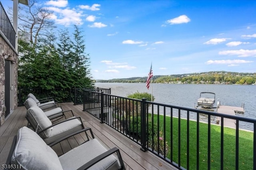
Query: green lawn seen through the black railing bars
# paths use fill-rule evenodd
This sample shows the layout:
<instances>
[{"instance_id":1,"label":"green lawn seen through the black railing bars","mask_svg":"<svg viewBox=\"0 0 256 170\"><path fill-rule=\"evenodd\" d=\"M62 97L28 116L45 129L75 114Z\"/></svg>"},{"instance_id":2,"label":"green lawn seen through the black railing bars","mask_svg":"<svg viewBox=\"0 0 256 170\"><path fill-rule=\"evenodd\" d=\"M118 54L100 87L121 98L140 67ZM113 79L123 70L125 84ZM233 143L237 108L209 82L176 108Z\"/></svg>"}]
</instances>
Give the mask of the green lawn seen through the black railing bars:
<instances>
[{"instance_id":1,"label":"green lawn seen through the black railing bars","mask_svg":"<svg viewBox=\"0 0 256 170\"><path fill-rule=\"evenodd\" d=\"M151 115L149 115L151 117ZM157 123L158 115L154 115L154 123ZM159 116L159 127L164 130L164 116ZM170 134L171 117L166 116L166 141L168 142L169 152L166 156L170 159ZM173 118L173 161L178 163L178 118ZM211 170L220 169L220 126L211 125ZM181 166L187 166L187 120L181 119ZM189 122L189 169L196 169L196 121ZM199 169L205 170L208 167L208 124L199 125ZM224 127L224 169L234 170L236 166L236 130ZM239 131L239 169L253 169L253 133Z\"/></svg>"}]
</instances>

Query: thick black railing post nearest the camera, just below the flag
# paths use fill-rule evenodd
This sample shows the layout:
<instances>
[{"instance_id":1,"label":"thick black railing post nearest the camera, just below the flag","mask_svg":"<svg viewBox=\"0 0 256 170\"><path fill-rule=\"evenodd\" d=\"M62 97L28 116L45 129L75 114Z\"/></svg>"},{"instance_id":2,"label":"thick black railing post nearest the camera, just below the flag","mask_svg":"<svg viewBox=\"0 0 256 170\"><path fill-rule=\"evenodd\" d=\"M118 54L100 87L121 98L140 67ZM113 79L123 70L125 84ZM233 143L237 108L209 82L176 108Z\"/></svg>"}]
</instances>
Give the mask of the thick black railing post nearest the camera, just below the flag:
<instances>
[{"instance_id":1,"label":"thick black railing post nearest the camera, just below the flag","mask_svg":"<svg viewBox=\"0 0 256 170\"><path fill-rule=\"evenodd\" d=\"M147 147L146 147L146 141L147 141L147 122L146 122L146 98L142 99L142 113L141 113L141 145L142 147L140 148L140 150L142 150L143 152L147 151Z\"/></svg>"}]
</instances>

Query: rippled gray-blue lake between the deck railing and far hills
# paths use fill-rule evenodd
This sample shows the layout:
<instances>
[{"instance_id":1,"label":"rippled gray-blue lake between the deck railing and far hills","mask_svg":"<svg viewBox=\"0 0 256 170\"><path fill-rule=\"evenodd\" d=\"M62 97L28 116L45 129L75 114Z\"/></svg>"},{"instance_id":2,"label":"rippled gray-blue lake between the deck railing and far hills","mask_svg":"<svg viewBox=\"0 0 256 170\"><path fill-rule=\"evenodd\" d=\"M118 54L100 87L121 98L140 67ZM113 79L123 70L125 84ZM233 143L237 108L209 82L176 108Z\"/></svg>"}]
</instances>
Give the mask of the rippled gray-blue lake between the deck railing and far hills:
<instances>
[{"instance_id":1,"label":"rippled gray-blue lake between the deck railing and far hills","mask_svg":"<svg viewBox=\"0 0 256 170\"><path fill-rule=\"evenodd\" d=\"M256 85L224 85L224 84L150 84L146 83L96 83L99 88L111 88L111 94L126 97L129 93L148 92L153 87L154 102L194 108L200 92L213 92L215 100L221 105L241 107L244 103L244 114L238 116L256 119ZM216 104L217 102L215 102ZM241 122L242 129L252 129L251 125Z\"/></svg>"}]
</instances>

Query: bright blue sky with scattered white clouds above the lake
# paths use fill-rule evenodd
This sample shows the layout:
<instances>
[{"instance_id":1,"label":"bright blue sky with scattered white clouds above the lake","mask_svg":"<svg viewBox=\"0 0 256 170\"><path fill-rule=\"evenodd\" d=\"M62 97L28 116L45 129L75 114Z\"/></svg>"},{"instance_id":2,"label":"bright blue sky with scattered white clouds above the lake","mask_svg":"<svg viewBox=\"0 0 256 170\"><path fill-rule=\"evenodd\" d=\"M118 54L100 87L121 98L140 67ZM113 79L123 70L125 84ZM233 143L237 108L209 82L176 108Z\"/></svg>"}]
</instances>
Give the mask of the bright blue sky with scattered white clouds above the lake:
<instances>
[{"instance_id":1,"label":"bright blue sky with scattered white clouds above the lake","mask_svg":"<svg viewBox=\"0 0 256 170\"><path fill-rule=\"evenodd\" d=\"M1 0L4 8L11 0ZM255 0L40 0L84 31L94 79L256 72Z\"/></svg>"}]
</instances>

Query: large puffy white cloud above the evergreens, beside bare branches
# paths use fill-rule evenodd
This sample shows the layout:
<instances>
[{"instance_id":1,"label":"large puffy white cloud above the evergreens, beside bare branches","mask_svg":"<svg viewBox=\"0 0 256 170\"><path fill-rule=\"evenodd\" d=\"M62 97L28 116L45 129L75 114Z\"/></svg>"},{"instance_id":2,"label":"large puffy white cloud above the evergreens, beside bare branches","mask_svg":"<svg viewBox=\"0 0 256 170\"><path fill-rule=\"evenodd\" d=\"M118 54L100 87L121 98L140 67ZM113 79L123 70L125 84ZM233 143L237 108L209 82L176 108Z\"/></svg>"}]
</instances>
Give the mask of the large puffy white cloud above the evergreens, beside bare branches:
<instances>
[{"instance_id":1,"label":"large puffy white cloud above the evergreens, beside bare branches","mask_svg":"<svg viewBox=\"0 0 256 170\"><path fill-rule=\"evenodd\" d=\"M83 24L82 12L77 12L75 9L60 9L55 7L47 7L47 9L52 10L56 13L50 16L50 19L54 20L57 24L65 26L74 25L78 23Z\"/></svg>"}]
</instances>

